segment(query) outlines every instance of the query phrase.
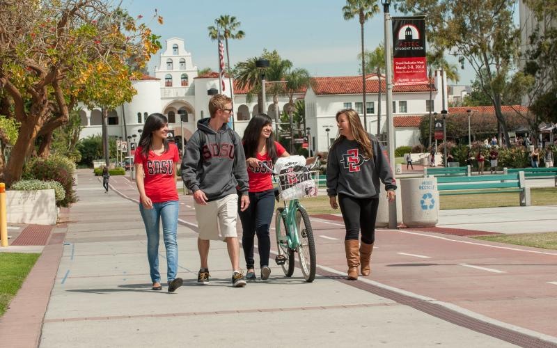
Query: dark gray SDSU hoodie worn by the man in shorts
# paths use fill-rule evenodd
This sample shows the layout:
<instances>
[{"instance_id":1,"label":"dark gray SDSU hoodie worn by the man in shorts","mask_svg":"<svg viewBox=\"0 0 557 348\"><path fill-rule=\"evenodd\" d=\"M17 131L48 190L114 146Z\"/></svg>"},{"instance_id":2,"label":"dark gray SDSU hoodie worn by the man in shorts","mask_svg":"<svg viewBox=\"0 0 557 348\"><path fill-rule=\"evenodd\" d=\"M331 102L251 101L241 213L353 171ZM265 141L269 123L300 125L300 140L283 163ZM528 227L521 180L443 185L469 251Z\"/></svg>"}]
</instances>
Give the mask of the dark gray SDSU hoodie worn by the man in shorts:
<instances>
[{"instance_id":1,"label":"dark gray SDSU hoodie worn by the man in shorts","mask_svg":"<svg viewBox=\"0 0 557 348\"><path fill-rule=\"evenodd\" d=\"M208 200L236 193L248 194L246 156L240 136L226 123L215 132L210 118L197 122L197 130L186 145L182 159L182 180L191 191L201 190Z\"/></svg>"}]
</instances>

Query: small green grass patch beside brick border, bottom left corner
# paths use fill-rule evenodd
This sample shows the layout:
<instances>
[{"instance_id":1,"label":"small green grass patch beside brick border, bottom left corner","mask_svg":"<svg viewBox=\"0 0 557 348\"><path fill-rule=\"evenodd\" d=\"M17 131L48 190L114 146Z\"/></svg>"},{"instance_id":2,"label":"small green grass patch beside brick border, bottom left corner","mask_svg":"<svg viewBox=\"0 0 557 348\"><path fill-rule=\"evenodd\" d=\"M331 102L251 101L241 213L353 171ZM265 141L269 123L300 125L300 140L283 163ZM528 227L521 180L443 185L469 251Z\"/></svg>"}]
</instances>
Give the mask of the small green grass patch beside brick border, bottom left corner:
<instances>
[{"instance_id":1,"label":"small green grass patch beside brick border, bottom left corner","mask_svg":"<svg viewBox=\"0 0 557 348\"><path fill-rule=\"evenodd\" d=\"M0 253L0 315L3 315L13 296L40 254Z\"/></svg>"}]
</instances>

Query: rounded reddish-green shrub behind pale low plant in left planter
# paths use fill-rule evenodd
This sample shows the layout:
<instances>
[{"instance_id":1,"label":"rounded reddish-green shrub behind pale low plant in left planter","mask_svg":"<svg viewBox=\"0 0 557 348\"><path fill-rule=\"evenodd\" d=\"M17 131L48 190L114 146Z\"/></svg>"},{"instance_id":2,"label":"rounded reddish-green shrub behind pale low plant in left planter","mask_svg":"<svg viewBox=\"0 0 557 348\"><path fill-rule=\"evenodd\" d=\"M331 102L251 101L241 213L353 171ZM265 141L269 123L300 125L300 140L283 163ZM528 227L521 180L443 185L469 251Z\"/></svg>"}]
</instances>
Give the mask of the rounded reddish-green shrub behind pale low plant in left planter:
<instances>
[{"instance_id":1,"label":"rounded reddish-green shrub behind pale low plant in left planter","mask_svg":"<svg viewBox=\"0 0 557 348\"><path fill-rule=\"evenodd\" d=\"M50 156L47 159L36 157L29 161L24 169L24 179L41 181L55 180L65 190L65 197L60 203L61 207L68 207L77 202L73 189L75 164L71 159L62 156Z\"/></svg>"}]
</instances>

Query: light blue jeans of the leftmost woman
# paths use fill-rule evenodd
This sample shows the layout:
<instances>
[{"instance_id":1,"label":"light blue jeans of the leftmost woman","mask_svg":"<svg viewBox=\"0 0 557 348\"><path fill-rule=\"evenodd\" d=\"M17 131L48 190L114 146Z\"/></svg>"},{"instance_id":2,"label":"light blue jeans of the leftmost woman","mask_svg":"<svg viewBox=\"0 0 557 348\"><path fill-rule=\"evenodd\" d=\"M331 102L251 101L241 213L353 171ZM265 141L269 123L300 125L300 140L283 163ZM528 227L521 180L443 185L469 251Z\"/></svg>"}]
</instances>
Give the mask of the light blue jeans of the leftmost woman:
<instances>
[{"instance_id":1,"label":"light blue jeans of the leftmost woman","mask_svg":"<svg viewBox=\"0 0 557 348\"><path fill-rule=\"evenodd\" d=\"M146 209L139 204L139 212L145 223L147 232L147 258L152 283L159 283L159 226L162 220L162 237L166 248L166 277L168 283L176 278L178 271L178 244L176 244L176 229L178 228L178 200L168 200L162 203L152 203L152 209Z\"/></svg>"}]
</instances>

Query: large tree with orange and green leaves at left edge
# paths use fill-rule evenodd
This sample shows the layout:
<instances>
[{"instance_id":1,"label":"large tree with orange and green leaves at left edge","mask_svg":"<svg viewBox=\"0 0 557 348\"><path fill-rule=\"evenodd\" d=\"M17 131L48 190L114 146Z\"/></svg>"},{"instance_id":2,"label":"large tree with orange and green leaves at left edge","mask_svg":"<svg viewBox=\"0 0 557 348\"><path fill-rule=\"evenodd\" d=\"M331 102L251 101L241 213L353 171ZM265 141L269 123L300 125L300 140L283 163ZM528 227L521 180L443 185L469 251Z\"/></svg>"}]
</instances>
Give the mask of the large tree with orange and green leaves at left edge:
<instances>
[{"instance_id":1,"label":"large tree with orange and green leaves at left edge","mask_svg":"<svg viewBox=\"0 0 557 348\"><path fill-rule=\"evenodd\" d=\"M37 137L68 122L77 102L129 102L127 58L143 68L161 45L146 24L106 0L6 0L0 23L0 113L21 122L4 171L9 186Z\"/></svg>"}]
</instances>

